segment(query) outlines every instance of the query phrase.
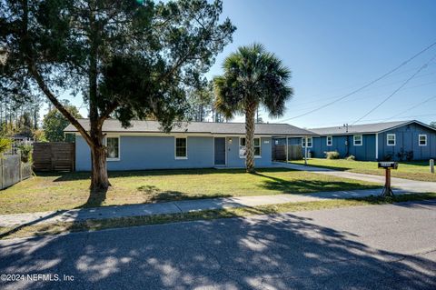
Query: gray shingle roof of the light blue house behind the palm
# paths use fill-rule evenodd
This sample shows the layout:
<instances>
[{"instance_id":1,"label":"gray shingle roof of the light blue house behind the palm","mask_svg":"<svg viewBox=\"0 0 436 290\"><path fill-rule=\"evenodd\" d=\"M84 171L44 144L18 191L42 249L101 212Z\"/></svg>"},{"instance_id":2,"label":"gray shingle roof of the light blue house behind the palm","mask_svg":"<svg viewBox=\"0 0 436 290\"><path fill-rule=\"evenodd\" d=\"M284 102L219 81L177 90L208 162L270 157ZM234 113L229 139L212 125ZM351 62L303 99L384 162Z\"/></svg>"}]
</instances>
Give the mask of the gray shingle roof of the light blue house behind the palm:
<instances>
[{"instance_id":1,"label":"gray shingle roof of the light blue house behind the palm","mask_svg":"<svg viewBox=\"0 0 436 290\"><path fill-rule=\"evenodd\" d=\"M89 119L79 119L79 123L89 130ZM162 128L157 121L132 121L131 126L123 128L118 120L104 121L104 132L116 133L162 133ZM64 132L77 132L74 125L68 125ZM213 122L183 122L174 126L172 133L213 134L213 135L243 135L244 123L213 123ZM288 124L256 124L255 135L316 135L315 133Z\"/></svg>"}]
</instances>

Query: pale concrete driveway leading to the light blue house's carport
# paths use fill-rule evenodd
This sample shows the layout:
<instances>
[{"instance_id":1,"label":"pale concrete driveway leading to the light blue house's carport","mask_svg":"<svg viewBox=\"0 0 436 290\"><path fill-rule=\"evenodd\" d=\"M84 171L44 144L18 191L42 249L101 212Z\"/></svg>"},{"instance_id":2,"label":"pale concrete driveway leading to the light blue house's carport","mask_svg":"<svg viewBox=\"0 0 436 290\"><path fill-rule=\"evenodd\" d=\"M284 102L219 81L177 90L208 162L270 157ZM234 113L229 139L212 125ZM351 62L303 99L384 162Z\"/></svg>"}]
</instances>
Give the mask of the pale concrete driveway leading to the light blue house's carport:
<instances>
[{"instance_id":1,"label":"pale concrete driveway leading to the light blue house's carport","mask_svg":"<svg viewBox=\"0 0 436 290\"><path fill-rule=\"evenodd\" d=\"M356 174L347 171L332 170L327 168L306 166L306 165L286 164L283 162L274 162L273 165L276 167L308 171L314 174L332 175L342 178L350 178L350 179L362 180L362 181L384 185L384 176L380 176L380 175L362 175L362 174ZM435 193L436 192L436 182L417 181L417 180L392 177L391 185L394 188L398 188L401 189L402 191L407 191L411 193Z\"/></svg>"}]
</instances>

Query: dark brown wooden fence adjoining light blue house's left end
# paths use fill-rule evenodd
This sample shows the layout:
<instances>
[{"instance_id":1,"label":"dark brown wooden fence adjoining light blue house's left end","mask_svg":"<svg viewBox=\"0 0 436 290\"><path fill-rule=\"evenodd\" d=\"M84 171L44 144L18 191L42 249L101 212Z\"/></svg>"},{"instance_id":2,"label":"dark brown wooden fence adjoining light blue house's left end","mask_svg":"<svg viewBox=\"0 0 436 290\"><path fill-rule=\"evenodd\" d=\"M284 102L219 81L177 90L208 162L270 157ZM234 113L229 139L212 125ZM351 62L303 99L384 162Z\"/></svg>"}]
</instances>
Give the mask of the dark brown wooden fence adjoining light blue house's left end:
<instances>
[{"instance_id":1,"label":"dark brown wooden fence adjoining light blue house's left end","mask_svg":"<svg viewBox=\"0 0 436 290\"><path fill-rule=\"evenodd\" d=\"M33 145L35 171L74 171L74 143L36 142Z\"/></svg>"}]
</instances>

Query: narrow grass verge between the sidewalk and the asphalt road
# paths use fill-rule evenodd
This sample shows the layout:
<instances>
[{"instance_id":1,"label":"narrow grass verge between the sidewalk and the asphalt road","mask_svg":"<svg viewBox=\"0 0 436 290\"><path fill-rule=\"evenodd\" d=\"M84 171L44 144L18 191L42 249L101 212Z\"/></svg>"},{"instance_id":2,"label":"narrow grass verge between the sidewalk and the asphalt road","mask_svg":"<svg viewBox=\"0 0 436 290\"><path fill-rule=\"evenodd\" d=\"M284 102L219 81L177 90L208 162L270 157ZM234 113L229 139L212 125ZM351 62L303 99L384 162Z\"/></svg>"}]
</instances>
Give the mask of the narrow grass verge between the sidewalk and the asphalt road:
<instances>
[{"instance_id":1,"label":"narrow grass verge between the sidewalk and the asphalt road","mask_svg":"<svg viewBox=\"0 0 436 290\"><path fill-rule=\"evenodd\" d=\"M262 205L253 207L226 208L205 210L187 214L134 216L104 220L88 220L85 222L57 223L46 225L29 225L22 227L0 227L0 239L9 239L36 235L59 235L62 233L97 231L107 228L128 227L137 225L157 225L194 220L212 220L217 218L241 217L249 215L272 215L287 212L332 209L349 206L386 205L407 201L422 201L436 198L436 194L395 195L381 198L369 196L356 199L334 199L328 201L288 203L281 205Z\"/></svg>"}]
</instances>

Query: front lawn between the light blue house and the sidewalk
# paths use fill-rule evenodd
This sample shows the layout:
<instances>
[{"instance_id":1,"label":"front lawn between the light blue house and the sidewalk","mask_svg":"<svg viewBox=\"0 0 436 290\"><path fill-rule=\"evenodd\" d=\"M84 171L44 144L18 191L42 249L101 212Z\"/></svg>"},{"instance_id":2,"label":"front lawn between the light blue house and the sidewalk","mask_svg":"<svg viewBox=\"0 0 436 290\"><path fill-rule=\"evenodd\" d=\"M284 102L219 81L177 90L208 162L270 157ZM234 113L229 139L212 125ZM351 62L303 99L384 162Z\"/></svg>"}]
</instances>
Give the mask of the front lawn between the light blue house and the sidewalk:
<instances>
[{"instance_id":1,"label":"front lawn between the light blue house and the sidewalk","mask_svg":"<svg viewBox=\"0 0 436 290\"><path fill-rule=\"evenodd\" d=\"M281 168L243 170L162 170L110 173L112 187L92 195L89 173L37 175L0 192L0 215L104 205L243 195L305 194L374 188L363 181Z\"/></svg>"}]
</instances>

